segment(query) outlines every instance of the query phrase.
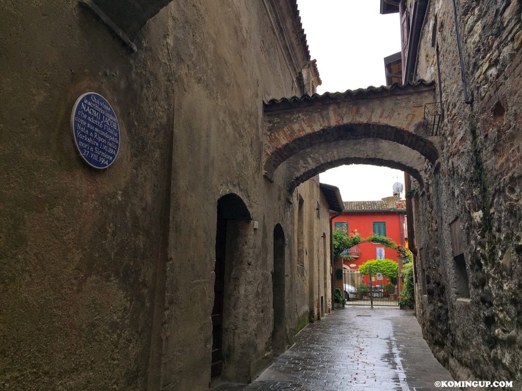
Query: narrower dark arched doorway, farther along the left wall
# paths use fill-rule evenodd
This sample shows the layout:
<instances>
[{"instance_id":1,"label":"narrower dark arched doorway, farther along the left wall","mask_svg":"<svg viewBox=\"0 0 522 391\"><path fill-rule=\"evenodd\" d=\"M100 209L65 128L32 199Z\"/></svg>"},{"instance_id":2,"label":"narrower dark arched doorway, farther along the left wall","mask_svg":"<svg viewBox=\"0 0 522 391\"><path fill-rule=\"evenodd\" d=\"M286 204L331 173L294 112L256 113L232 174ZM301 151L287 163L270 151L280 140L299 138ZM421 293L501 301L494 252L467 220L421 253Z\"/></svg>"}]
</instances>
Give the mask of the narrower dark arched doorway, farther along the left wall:
<instances>
[{"instance_id":1,"label":"narrower dark arched doorway, farther along the left wall","mask_svg":"<svg viewBox=\"0 0 522 391\"><path fill-rule=\"evenodd\" d=\"M272 307L274 308L274 328L272 329L272 353L278 355L285 350L285 306L284 306L284 273L285 273L285 241L280 224L274 228L274 272L272 273Z\"/></svg>"}]
</instances>

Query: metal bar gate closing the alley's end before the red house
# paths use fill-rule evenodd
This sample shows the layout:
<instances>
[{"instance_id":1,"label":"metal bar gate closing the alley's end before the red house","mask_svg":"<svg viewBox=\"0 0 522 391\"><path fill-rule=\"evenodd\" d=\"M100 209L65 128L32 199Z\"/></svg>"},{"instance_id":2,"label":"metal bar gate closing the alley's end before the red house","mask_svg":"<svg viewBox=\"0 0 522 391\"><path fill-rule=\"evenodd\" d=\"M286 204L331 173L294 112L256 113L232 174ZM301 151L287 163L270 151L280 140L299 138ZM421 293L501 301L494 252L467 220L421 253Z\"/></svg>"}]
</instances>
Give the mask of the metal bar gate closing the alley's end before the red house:
<instances>
[{"instance_id":1,"label":"metal bar gate closing the alley's end before the red house","mask_svg":"<svg viewBox=\"0 0 522 391\"><path fill-rule=\"evenodd\" d=\"M400 280L398 276L385 277L380 273L361 274L358 270L344 270L345 299L351 306L399 305Z\"/></svg>"}]
</instances>

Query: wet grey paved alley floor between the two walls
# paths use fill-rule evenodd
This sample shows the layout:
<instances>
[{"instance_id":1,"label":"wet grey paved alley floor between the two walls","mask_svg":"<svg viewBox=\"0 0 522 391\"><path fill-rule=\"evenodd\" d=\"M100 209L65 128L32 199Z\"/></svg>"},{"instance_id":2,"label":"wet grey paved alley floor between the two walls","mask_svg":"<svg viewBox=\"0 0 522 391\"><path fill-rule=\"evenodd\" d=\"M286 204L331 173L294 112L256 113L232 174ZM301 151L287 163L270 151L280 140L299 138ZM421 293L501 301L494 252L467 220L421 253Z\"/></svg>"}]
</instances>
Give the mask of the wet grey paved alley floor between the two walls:
<instances>
[{"instance_id":1,"label":"wet grey paved alley floor between the two walls","mask_svg":"<svg viewBox=\"0 0 522 391\"><path fill-rule=\"evenodd\" d=\"M304 328L252 384L216 390L427 391L452 380L422 339L413 312L347 307Z\"/></svg>"}]
</instances>

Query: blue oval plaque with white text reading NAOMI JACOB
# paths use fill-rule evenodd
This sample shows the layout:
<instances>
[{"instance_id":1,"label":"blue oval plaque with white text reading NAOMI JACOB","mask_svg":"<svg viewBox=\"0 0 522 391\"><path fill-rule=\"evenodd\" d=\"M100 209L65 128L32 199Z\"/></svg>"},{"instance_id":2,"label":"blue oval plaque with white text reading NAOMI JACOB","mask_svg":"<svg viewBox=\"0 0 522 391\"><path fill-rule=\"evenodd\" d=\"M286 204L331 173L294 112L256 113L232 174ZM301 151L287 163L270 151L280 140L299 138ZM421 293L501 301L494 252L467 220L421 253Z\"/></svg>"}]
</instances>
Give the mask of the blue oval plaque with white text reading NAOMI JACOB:
<instances>
[{"instance_id":1,"label":"blue oval plaque with white text reading NAOMI JACOB","mask_svg":"<svg viewBox=\"0 0 522 391\"><path fill-rule=\"evenodd\" d=\"M113 108L96 92L76 101L70 116L73 138L81 157L94 168L107 168L120 149L120 126Z\"/></svg>"}]
</instances>

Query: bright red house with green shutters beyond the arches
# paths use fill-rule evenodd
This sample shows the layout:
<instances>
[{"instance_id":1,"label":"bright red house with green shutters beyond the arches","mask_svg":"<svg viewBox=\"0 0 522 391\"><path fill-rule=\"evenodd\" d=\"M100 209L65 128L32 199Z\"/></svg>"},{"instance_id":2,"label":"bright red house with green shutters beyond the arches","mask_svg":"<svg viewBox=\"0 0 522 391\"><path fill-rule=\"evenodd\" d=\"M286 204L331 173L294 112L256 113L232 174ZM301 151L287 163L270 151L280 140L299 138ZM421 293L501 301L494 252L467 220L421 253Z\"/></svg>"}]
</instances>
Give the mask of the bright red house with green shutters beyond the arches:
<instances>
[{"instance_id":1,"label":"bright red house with green shutters beyond the arches","mask_svg":"<svg viewBox=\"0 0 522 391\"><path fill-rule=\"evenodd\" d=\"M373 233L386 236L398 245L405 246L406 202L393 197L381 201L349 201L343 202L344 211L334 218L332 224L341 228L349 235L359 233L362 238ZM398 261L397 251L389 249L380 243L365 242L352 248L350 255L353 260L345 260L345 268L359 270L359 265L372 259L392 259ZM365 278L366 282L366 278ZM387 283L386 279L383 281Z\"/></svg>"}]
</instances>

